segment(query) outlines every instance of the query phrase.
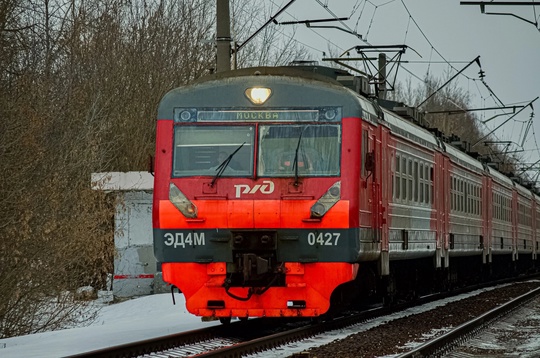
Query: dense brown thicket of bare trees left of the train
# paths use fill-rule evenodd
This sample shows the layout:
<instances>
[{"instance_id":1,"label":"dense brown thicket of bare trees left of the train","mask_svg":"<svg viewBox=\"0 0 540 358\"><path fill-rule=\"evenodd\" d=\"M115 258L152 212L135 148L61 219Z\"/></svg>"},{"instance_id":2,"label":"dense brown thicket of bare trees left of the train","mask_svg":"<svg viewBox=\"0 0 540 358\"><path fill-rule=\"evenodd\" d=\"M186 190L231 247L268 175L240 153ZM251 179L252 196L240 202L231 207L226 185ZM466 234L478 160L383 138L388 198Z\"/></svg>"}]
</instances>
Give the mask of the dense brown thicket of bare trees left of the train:
<instances>
[{"instance_id":1,"label":"dense brown thicket of bare trees left of the train","mask_svg":"<svg viewBox=\"0 0 540 358\"><path fill-rule=\"evenodd\" d=\"M266 16L234 4L239 31ZM114 203L90 174L146 169L162 96L215 66L214 19L215 0L0 0L0 337L92 317L73 293L112 271ZM295 56L278 37L243 63Z\"/></svg>"}]
</instances>

